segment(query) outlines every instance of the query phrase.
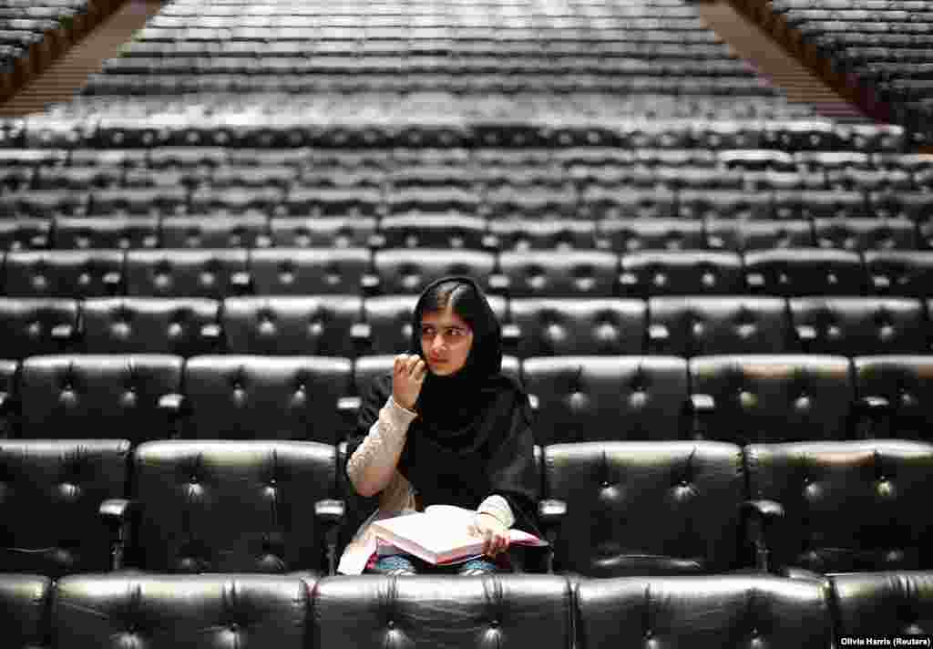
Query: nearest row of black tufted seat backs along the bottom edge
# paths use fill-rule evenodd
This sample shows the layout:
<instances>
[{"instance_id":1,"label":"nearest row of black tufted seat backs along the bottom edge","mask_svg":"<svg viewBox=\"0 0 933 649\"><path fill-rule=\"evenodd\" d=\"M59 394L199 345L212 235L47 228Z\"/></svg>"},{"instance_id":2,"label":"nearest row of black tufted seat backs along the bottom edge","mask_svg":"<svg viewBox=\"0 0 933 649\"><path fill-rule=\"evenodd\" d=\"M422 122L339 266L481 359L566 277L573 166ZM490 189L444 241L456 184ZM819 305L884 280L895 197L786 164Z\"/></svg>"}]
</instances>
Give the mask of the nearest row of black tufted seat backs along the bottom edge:
<instances>
[{"instance_id":1,"label":"nearest row of black tufted seat backs along the bottom edge","mask_svg":"<svg viewBox=\"0 0 933 649\"><path fill-rule=\"evenodd\" d=\"M924 642L926 571L840 575L821 589L763 576L580 580L501 575L327 577L89 575L0 580L11 649L113 638L178 644L258 643L334 649L410 646L567 649L646 639L671 646L755 642L822 649L833 642ZM46 614L46 612L52 612ZM158 617L153 617L158 612ZM925 635L926 634L926 635Z\"/></svg>"}]
</instances>

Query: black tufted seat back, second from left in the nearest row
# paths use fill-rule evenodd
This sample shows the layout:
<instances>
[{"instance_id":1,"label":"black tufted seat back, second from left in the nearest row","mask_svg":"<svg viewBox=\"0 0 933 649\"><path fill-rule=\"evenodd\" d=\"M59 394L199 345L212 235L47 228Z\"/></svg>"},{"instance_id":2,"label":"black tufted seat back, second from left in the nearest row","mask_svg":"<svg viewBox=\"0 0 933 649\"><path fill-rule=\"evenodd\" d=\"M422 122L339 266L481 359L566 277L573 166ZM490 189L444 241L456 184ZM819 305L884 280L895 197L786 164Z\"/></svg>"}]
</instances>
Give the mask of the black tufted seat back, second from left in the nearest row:
<instances>
[{"instance_id":1,"label":"black tufted seat back, second from left in the nearest row","mask_svg":"<svg viewBox=\"0 0 933 649\"><path fill-rule=\"evenodd\" d=\"M304 583L281 575L76 575L55 590L58 646L306 647Z\"/></svg>"}]
</instances>

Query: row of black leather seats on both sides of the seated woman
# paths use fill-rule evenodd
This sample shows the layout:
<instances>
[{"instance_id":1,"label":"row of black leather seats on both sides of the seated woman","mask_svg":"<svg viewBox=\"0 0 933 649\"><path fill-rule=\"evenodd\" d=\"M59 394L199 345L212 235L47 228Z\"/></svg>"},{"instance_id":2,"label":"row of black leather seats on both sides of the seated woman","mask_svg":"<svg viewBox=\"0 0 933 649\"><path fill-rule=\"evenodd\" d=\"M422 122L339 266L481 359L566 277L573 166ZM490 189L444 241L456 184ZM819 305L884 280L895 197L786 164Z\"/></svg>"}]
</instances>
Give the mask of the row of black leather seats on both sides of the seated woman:
<instances>
[{"instance_id":1,"label":"row of black leather seats on both sides of the seated woman","mask_svg":"<svg viewBox=\"0 0 933 649\"><path fill-rule=\"evenodd\" d=\"M604 442L554 444L539 457L553 556L528 557L528 571L715 575L755 565L818 583L933 558L930 444ZM119 439L0 441L10 543L0 571L332 573L360 515L344 461L314 442L131 451Z\"/></svg>"}]
</instances>

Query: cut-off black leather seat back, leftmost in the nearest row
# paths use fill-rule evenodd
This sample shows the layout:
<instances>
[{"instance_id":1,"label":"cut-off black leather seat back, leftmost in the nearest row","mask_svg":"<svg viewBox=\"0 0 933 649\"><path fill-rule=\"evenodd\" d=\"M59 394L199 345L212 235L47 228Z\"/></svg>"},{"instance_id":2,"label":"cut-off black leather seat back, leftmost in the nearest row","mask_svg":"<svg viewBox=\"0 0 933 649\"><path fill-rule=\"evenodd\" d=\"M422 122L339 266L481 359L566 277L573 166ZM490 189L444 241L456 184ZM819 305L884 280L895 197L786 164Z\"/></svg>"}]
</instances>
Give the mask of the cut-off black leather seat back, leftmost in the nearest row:
<instances>
[{"instance_id":1,"label":"cut-off black leather seat back, leftmost in the nearest row","mask_svg":"<svg viewBox=\"0 0 933 649\"><path fill-rule=\"evenodd\" d=\"M52 581L35 574L0 575L0 628L10 649L36 649L49 633Z\"/></svg>"}]
</instances>

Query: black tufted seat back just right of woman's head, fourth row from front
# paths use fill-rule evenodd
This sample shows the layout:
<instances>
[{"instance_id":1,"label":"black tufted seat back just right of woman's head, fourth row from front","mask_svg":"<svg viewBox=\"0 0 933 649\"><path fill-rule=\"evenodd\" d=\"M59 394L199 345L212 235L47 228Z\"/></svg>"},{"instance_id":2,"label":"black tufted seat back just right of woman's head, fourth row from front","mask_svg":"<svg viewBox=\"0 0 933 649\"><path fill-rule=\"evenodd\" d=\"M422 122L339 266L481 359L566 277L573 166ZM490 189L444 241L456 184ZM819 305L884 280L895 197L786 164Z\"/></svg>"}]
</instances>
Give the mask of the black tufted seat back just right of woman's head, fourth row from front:
<instances>
[{"instance_id":1,"label":"black tufted seat back just right of woman's head, fourth row from front","mask_svg":"<svg viewBox=\"0 0 933 649\"><path fill-rule=\"evenodd\" d=\"M533 356L618 356L645 348L645 303L598 298L515 298L503 329L510 352Z\"/></svg>"}]
</instances>

